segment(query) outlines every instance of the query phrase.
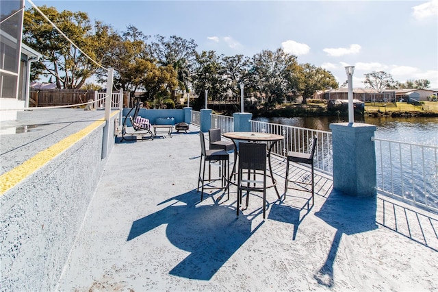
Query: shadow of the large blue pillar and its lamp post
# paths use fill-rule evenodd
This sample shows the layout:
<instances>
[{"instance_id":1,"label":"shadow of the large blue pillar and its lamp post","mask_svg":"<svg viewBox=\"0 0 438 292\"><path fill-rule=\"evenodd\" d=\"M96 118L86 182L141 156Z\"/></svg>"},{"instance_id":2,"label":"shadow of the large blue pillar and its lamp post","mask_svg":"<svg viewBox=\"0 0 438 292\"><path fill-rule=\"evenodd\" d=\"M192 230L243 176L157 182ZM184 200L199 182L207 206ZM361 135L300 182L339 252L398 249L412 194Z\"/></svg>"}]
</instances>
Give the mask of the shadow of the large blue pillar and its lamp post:
<instances>
[{"instance_id":1,"label":"shadow of the large blue pillar and its lamp post","mask_svg":"<svg viewBox=\"0 0 438 292\"><path fill-rule=\"evenodd\" d=\"M313 276L319 284L333 287L333 263L342 234L350 235L378 228L376 208L376 197L350 197L332 190L320 211L315 212L315 216L337 229L326 262Z\"/></svg>"}]
</instances>

